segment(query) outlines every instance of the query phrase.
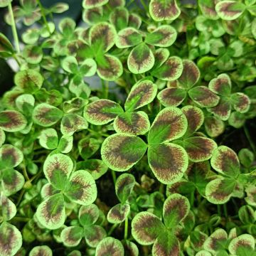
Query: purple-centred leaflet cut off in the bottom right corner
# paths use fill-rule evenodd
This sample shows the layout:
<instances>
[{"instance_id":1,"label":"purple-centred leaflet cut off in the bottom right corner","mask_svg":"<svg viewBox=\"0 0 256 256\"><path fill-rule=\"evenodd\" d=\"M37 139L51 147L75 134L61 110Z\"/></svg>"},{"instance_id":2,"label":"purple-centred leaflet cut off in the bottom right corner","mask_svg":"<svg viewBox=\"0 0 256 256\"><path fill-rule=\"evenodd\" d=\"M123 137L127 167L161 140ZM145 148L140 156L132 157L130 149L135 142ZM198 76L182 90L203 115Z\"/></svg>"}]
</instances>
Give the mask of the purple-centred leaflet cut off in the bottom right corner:
<instances>
[{"instance_id":1,"label":"purple-centred leaflet cut off in the bottom right corner","mask_svg":"<svg viewBox=\"0 0 256 256\"><path fill-rule=\"evenodd\" d=\"M231 240L228 250L231 255L252 255L255 250L255 239L249 234L239 235Z\"/></svg>"}]
</instances>

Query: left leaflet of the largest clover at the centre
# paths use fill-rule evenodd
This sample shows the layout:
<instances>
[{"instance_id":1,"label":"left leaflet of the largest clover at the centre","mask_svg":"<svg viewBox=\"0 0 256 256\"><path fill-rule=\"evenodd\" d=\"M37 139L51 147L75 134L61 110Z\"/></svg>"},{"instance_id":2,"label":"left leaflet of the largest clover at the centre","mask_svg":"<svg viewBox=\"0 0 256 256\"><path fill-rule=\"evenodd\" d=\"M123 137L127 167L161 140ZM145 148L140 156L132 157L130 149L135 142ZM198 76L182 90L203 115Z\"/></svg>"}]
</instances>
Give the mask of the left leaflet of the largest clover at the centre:
<instances>
[{"instance_id":1,"label":"left leaflet of the largest clover at the centre","mask_svg":"<svg viewBox=\"0 0 256 256\"><path fill-rule=\"evenodd\" d=\"M139 137L112 134L102 143L101 155L105 164L114 171L127 171L146 152L146 144Z\"/></svg>"}]
</instances>

